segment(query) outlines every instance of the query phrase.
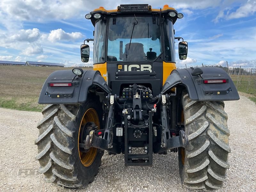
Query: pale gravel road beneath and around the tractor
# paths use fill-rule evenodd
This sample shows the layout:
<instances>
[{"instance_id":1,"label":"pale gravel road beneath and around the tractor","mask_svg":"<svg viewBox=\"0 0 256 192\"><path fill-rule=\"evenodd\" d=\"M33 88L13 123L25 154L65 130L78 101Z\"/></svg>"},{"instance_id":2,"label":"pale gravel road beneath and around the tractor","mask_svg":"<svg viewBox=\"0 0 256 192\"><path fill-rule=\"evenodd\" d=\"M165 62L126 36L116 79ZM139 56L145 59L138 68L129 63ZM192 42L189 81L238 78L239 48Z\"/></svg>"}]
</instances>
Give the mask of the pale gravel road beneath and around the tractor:
<instances>
[{"instance_id":1,"label":"pale gravel road beneath and around the tractor","mask_svg":"<svg viewBox=\"0 0 256 192\"><path fill-rule=\"evenodd\" d=\"M228 181L217 191L256 191L256 105L244 96L225 102L230 129ZM152 167L125 167L124 156L102 158L86 188L63 189L37 172L34 140L41 113L0 108L0 191L195 191L180 184L178 154L153 156Z\"/></svg>"}]
</instances>

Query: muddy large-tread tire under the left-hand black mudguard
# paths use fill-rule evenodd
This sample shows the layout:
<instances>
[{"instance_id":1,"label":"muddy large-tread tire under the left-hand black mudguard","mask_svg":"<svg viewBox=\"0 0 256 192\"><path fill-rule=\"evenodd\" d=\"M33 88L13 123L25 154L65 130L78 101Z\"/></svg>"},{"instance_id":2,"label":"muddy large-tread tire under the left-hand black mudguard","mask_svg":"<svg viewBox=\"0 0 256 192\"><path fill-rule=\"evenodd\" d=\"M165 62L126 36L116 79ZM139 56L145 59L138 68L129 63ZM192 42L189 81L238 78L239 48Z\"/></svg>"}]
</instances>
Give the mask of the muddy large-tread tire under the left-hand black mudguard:
<instances>
[{"instance_id":1,"label":"muddy large-tread tire under the left-hand black mudguard","mask_svg":"<svg viewBox=\"0 0 256 192\"><path fill-rule=\"evenodd\" d=\"M80 122L89 108L94 108L101 119L100 102L93 100L77 105L48 105L43 109L43 119L37 125L39 136L35 144L38 148L36 160L41 166L39 173L44 174L46 182L78 188L91 183L97 175L104 151L98 149L89 167L81 163L78 151Z\"/></svg>"}]
</instances>

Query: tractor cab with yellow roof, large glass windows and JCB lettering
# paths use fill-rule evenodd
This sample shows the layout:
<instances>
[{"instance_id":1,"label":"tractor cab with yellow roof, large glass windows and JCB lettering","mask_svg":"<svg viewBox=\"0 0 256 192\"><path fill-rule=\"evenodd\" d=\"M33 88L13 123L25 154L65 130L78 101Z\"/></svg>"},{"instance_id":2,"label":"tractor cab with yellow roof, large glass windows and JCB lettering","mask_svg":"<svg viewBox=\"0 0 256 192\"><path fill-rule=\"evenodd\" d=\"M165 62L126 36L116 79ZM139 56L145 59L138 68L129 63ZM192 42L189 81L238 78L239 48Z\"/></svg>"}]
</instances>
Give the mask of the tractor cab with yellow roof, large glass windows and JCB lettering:
<instances>
[{"instance_id":1,"label":"tractor cab with yellow roof, large glass windows and JCB lettering","mask_svg":"<svg viewBox=\"0 0 256 192\"><path fill-rule=\"evenodd\" d=\"M103 7L86 14L92 21L93 69L99 70L117 94L120 81L127 84L145 81L150 87L156 86L157 92L163 86L175 65L175 44L173 24L183 17L174 8L164 5L161 9L153 9L148 4L120 5L116 10L105 10ZM81 46L82 52L89 49ZM186 48L187 49L187 48ZM187 53L182 53L185 58ZM136 83L136 82L135 82Z\"/></svg>"}]
</instances>

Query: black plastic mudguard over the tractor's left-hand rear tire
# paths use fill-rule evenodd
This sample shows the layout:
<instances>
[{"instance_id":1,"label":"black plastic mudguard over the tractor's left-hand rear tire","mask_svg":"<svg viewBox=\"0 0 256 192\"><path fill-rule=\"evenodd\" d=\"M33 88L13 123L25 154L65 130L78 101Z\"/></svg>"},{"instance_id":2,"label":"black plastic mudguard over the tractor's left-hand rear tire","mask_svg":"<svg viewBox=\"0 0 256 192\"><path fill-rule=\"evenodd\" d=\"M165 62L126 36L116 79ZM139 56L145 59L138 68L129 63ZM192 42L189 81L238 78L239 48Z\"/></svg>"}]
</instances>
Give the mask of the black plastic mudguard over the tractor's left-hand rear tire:
<instances>
[{"instance_id":1,"label":"black plastic mudguard over the tractor's left-hand rear tire","mask_svg":"<svg viewBox=\"0 0 256 192\"><path fill-rule=\"evenodd\" d=\"M73 104L84 103L91 89L100 89L101 92L111 93L99 71L84 70L82 77L75 77L72 70L54 71L44 82L38 103L39 104ZM50 83L71 83L69 87L51 87Z\"/></svg>"}]
</instances>

